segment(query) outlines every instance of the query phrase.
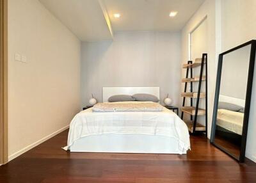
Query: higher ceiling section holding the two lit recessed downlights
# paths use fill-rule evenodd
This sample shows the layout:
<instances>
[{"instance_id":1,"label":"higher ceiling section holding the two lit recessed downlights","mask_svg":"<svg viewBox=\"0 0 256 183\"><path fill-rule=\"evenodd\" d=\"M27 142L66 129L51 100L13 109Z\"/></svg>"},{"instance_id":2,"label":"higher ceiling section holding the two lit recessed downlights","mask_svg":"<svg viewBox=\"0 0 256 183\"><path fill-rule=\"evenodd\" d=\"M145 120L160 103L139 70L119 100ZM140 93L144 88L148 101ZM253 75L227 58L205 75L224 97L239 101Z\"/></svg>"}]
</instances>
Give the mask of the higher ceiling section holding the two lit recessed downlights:
<instances>
[{"instance_id":1,"label":"higher ceiling section holding the two lit recessed downlights","mask_svg":"<svg viewBox=\"0 0 256 183\"><path fill-rule=\"evenodd\" d=\"M104 0L114 31L179 31L204 0ZM170 18L171 11L178 12ZM120 12L120 19L113 13Z\"/></svg>"}]
</instances>

